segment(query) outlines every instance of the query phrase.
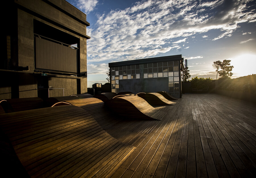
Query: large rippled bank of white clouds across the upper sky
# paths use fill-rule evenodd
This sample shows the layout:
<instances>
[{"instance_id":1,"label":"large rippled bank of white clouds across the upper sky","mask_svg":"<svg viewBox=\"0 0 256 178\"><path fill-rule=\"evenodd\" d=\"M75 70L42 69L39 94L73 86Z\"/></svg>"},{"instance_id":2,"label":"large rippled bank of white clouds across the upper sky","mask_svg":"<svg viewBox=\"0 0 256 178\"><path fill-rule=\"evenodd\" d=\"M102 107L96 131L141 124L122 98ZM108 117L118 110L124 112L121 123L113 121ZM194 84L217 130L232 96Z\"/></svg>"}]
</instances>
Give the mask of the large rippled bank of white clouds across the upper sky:
<instances>
[{"instance_id":1,"label":"large rippled bank of white clouds across the upper sky","mask_svg":"<svg viewBox=\"0 0 256 178\"><path fill-rule=\"evenodd\" d=\"M91 7L95 7L93 3ZM211 40L230 37L239 28L238 23L255 19L247 1L144 0L98 15L87 41L87 59L90 63L153 57L180 49L178 43L210 30L218 31Z\"/></svg>"}]
</instances>

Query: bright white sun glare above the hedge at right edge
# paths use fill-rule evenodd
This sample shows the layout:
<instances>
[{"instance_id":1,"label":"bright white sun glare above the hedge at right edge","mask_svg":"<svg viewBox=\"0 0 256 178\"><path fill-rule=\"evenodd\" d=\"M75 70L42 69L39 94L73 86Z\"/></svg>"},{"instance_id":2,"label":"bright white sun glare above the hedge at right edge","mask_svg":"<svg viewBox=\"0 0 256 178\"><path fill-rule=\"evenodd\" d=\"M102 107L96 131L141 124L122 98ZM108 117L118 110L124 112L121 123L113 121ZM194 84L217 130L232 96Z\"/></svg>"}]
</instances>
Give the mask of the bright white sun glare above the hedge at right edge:
<instances>
[{"instance_id":1,"label":"bright white sun glare above the hedge at right edge","mask_svg":"<svg viewBox=\"0 0 256 178\"><path fill-rule=\"evenodd\" d=\"M256 74L256 55L242 54L230 60L230 64L234 66L232 78Z\"/></svg>"}]
</instances>

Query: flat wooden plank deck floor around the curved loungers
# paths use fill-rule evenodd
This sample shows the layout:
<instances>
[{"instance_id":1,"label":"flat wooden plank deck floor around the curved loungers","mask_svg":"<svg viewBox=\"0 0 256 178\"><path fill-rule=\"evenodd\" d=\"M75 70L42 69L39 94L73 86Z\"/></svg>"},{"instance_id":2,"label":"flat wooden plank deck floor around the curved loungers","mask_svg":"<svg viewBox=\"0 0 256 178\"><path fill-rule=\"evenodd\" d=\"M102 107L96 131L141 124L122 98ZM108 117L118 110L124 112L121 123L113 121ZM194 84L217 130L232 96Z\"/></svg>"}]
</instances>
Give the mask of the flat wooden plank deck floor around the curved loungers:
<instances>
[{"instance_id":1,"label":"flat wooden plank deck floor around the curved loungers","mask_svg":"<svg viewBox=\"0 0 256 178\"><path fill-rule=\"evenodd\" d=\"M122 161L105 161L106 166L94 169L94 177L256 176L256 104L185 94L175 105L155 108L167 112L162 120L113 116L103 102L97 112L92 106L81 107L104 131L135 149ZM79 177L79 171L73 173Z\"/></svg>"}]
</instances>

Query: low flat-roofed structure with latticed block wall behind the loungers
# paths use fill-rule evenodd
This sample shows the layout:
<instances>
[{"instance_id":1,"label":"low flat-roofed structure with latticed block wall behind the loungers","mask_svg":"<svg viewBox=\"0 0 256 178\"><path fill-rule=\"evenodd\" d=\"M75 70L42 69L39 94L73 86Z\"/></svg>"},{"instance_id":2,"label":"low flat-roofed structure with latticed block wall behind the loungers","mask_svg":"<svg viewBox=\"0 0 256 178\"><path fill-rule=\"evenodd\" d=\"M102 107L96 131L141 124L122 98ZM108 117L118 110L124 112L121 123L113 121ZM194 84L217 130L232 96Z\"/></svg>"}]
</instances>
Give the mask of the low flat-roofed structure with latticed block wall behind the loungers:
<instances>
[{"instance_id":1,"label":"low flat-roofed structure with latticed block wall behind the loungers","mask_svg":"<svg viewBox=\"0 0 256 178\"><path fill-rule=\"evenodd\" d=\"M181 98L181 55L109 63L112 92L167 91Z\"/></svg>"}]
</instances>

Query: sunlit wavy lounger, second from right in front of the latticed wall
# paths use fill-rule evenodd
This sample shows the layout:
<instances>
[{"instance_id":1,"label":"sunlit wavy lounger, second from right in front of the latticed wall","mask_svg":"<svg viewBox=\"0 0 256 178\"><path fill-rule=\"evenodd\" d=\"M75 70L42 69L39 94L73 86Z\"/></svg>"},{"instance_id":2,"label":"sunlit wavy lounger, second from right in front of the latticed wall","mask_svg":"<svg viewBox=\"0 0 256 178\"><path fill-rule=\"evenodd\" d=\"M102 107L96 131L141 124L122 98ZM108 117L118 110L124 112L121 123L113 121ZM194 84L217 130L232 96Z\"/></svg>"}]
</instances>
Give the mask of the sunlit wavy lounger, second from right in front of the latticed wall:
<instances>
[{"instance_id":1,"label":"sunlit wavy lounger, second from right in front of the latticed wall","mask_svg":"<svg viewBox=\"0 0 256 178\"><path fill-rule=\"evenodd\" d=\"M175 102L167 100L163 97L163 95L160 95L159 93L138 93L137 95L146 100L152 106L175 104Z\"/></svg>"}]
</instances>

